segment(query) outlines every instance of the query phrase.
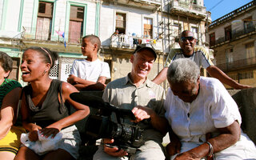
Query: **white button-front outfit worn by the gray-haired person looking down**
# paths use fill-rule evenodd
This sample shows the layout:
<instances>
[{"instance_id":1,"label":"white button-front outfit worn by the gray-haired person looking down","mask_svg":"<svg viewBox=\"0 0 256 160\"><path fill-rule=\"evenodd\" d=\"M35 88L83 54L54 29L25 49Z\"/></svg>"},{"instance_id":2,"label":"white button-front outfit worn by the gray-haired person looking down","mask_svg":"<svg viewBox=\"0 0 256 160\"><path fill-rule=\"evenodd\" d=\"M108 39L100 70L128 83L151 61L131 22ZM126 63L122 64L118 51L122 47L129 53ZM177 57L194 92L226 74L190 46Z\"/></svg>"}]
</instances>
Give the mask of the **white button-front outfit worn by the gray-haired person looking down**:
<instances>
[{"instance_id":1,"label":"white button-front outfit worn by the gray-haired person looking down","mask_svg":"<svg viewBox=\"0 0 256 160\"><path fill-rule=\"evenodd\" d=\"M206 142L207 133L217 133L218 128L230 126L235 120L238 120L239 124L242 122L236 102L216 78L201 77L198 97L191 103L183 102L169 89L164 107L172 130L182 142L181 152ZM218 156L234 159L226 157L232 154L235 157L254 154L252 156L255 158L254 143L248 139L246 134L242 133L240 140L234 146L214 154L215 158Z\"/></svg>"}]
</instances>

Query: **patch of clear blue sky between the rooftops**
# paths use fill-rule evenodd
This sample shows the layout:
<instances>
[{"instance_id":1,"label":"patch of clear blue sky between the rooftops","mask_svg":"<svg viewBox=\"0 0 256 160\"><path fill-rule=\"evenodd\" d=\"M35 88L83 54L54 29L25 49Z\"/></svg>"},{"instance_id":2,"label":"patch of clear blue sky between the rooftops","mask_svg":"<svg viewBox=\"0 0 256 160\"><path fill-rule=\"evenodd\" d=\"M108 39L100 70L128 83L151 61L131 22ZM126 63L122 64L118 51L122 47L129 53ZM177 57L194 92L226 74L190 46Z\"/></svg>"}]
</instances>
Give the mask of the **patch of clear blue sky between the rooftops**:
<instances>
[{"instance_id":1,"label":"patch of clear blue sky between the rooftops","mask_svg":"<svg viewBox=\"0 0 256 160\"><path fill-rule=\"evenodd\" d=\"M204 0L206 10L211 12L211 19L221 18L223 15L229 14L233 10L246 5L253 0Z\"/></svg>"}]
</instances>

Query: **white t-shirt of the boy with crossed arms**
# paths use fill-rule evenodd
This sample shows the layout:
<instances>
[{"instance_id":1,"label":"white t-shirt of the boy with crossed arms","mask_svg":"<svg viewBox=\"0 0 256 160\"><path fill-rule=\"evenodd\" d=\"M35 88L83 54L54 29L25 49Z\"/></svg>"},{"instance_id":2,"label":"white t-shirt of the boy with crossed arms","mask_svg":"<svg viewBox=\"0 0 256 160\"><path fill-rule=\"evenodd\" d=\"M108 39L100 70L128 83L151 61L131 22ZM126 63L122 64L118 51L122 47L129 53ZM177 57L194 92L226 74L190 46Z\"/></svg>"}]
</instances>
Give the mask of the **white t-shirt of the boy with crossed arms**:
<instances>
[{"instance_id":1,"label":"white t-shirt of the boy with crossed arms","mask_svg":"<svg viewBox=\"0 0 256 160\"><path fill-rule=\"evenodd\" d=\"M87 81L97 82L99 77L110 78L110 66L107 62L102 62L99 59L94 62L86 59L76 59L70 74Z\"/></svg>"}]
</instances>

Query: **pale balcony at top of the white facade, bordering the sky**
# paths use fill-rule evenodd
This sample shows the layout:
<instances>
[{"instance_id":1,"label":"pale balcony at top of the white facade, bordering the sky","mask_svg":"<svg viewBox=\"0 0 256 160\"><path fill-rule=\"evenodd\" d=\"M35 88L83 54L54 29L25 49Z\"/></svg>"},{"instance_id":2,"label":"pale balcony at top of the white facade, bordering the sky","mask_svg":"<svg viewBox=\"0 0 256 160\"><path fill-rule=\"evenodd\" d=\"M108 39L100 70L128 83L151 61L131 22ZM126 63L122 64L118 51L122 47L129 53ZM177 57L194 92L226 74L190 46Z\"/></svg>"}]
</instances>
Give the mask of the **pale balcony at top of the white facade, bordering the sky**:
<instances>
[{"instance_id":1,"label":"pale balcony at top of the white facade, bordering the sky","mask_svg":"<svg viewBox=\"0 0 256 160\"><path fill-rule=\"evenodd\" d=\"M191 4L189 2L182 2L177 0L173 0L170 2L170 10L173 10L173 9L195 12L198 14L206 14L205 6L199 6L196 4Z\"/></svg>"}]
</instances>

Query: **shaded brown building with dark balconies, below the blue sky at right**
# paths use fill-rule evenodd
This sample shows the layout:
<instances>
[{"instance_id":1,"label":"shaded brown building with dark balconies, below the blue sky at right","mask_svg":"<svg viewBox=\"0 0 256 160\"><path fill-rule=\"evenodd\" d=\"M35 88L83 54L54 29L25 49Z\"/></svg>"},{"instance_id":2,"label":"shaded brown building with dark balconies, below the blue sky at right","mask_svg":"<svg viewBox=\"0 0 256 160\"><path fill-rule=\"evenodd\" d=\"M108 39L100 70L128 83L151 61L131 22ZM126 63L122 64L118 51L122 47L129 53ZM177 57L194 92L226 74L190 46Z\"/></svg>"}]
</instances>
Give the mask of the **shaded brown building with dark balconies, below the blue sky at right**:
<instances>
[{"instance_id":1,"label":"shaded brown building with dark balconies, below the blue sky at right","mask_svg":"<svg viewBox=\"0 0 256 160\"><path fill-rule=\"evenodd\" d=\"M255 21L256 1L252 1L212 22L207 33L216 66L250 86L256 86Z\"/></svg>"}]
</instances>

